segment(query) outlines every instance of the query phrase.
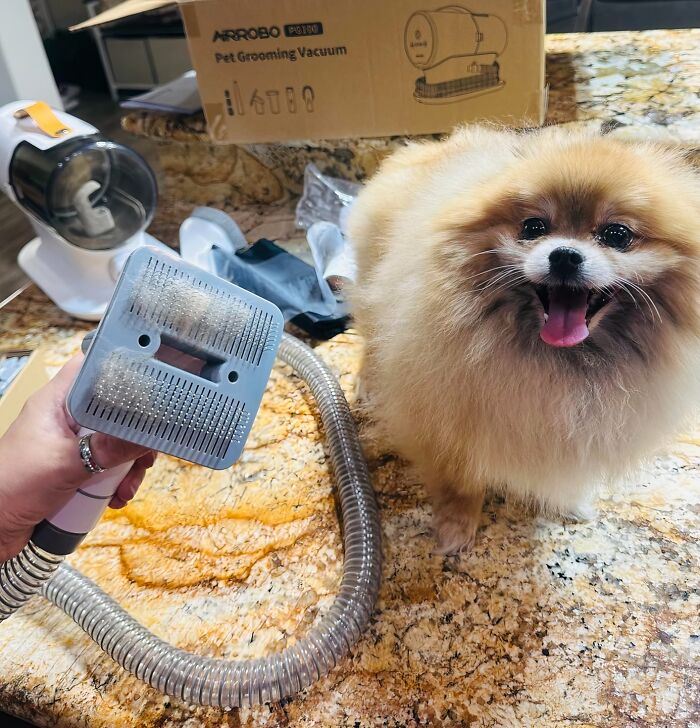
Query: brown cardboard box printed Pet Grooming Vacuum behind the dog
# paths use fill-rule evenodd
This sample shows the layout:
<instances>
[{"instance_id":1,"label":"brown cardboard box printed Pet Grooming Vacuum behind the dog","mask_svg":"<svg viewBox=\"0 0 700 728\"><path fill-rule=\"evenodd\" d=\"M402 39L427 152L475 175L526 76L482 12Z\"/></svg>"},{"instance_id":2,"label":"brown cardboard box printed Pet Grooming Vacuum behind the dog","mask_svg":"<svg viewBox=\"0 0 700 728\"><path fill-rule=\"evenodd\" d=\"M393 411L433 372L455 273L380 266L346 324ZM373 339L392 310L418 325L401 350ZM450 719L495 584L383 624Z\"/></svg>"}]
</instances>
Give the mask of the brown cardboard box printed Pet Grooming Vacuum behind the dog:
<instances>
[{"instance_id":1,"label":"brown cardboard box printed Pet Grooming Vacuum behind the dog","mask_svg":"<svg viewBox=\"0 0 700 728\"><path fill-rule=\"evenodd\" d=\"M180 7L218 141L429 134L465 121L544 119L545 0Z\"/></svg>"}]
</instances>

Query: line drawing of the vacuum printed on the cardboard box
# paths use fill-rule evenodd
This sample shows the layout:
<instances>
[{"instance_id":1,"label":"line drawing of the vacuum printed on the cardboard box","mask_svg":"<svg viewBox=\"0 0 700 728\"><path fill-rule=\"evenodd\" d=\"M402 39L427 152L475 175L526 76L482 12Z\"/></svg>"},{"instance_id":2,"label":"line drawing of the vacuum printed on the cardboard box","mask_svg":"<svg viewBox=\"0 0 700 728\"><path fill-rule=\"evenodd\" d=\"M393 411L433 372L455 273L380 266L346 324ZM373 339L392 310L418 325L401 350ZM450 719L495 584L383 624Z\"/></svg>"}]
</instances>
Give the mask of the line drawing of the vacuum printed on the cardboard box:
<instances>
[{"instance_id":1,"label":"line drawing of the vacuum printed on the cardboard box","mask_svg":"<svg viewBox=\"0 0 700 728\"><path fill-rule=\"evenodd\" d=\"M507 41L505 23L496 15L459 5L413 13L404 46L409 61L424 73L416 79L414 98L446 104L502 88L498 57Z\"/></svg>"}]
</instances>

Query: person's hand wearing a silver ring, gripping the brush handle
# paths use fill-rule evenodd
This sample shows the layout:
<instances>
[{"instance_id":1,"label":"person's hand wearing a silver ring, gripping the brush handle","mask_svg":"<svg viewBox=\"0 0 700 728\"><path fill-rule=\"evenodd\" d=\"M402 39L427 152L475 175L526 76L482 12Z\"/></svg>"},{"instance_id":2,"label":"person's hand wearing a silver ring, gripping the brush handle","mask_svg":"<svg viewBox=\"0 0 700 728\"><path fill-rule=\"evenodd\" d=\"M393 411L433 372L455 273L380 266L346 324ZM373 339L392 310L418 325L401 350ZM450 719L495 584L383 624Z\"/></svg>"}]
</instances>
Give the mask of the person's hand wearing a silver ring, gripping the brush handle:
<instances>
[{"instance_id":1,"label":"person's hand wearing a silver ring, gripping the brush handle","mask_svg":"<svg viewBox=\"0 0 700 728\"><path fill-rule=\"evenodd\" d=\"M78 452L78 426L65 406L82 360L82 355L71 359L33 394L0 438L0 562L16 556L34 527L92 477ZM153 465L155 453L101 432L91 437L90 446L103 468L134 461L109 504L123 508Z\"/></svg>"}]
</instances>

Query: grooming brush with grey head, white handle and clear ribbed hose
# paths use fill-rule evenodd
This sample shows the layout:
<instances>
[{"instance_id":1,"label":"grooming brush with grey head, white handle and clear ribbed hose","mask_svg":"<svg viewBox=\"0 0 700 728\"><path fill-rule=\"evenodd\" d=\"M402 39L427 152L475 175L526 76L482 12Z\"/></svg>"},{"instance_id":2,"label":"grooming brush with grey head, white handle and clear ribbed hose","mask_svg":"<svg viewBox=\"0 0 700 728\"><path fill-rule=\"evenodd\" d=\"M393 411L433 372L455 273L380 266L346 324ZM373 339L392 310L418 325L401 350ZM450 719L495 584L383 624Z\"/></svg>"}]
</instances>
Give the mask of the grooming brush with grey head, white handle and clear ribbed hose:
<instances>
[{"instance_id":1,"label":"grooming brush with grey head, white handle and clear ribbed hose","mask_svg":"<svg viewBox=\"0 0 700 728\"><path fill-rule=\"evenodd\" d=\"M290 696L330 671L359 639L379 592L377 505L340 386L307 346L282 333L272 304L153 249L133 253L68 398L84 428L212 468L240 455L279 355L316 399L337 481L345 566L318 626L282 651L224 660L180 650L62 564L131 467L94 475L29 544L0 564L0 622L38 591L124 669L189 703L220 707ZM89 432L84 429L82 432Z\"/></svg>"}]
</instances>

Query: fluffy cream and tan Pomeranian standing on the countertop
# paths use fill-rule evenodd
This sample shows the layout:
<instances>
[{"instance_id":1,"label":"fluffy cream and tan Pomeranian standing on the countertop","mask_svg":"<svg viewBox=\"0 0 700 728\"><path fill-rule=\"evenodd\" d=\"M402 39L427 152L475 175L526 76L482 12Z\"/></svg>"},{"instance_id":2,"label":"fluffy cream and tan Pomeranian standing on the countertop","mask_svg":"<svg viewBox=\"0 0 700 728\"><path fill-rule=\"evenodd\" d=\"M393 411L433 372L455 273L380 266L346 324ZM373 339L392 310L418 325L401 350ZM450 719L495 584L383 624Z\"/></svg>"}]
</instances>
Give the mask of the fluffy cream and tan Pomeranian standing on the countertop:
<instances>
[{"instance_id":1,"label":"fluffy cream and tan Pomeranian standing on the countertop","mask_svg":"<svg viewBox=\"0 0 700 728\"><path fill-rule=\"evenodd\" d=\"M489 488L587 517L697 403L700 180L677 151L461 129L386 160L349 234L363 397L442 553Z\"/></svg>"}]
</instances>

